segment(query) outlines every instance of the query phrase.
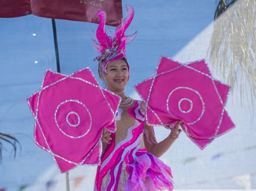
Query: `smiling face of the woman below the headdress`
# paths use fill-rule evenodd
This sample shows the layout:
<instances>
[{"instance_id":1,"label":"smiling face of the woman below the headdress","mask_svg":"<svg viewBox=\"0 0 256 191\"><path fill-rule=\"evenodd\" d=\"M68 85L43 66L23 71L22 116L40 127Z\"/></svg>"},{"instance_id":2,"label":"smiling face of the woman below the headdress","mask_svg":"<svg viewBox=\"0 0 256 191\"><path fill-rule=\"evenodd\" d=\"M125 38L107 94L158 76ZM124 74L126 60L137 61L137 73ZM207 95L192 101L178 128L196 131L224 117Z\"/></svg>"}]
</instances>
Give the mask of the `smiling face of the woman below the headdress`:
<instances>
[{"instance_id":1,"label":"smiling face of the woman below the headdress","mask_svg":"<svg viewBox=\"0 0 256 191\"><path fill-rule=\"evenodd\" d=\"M105 79L109 83L110 87L117 92L123 91L129 79L129 69L127 62L124 59L118 59L110 62L105 74Z\"/></svg>"}]
</instances>

